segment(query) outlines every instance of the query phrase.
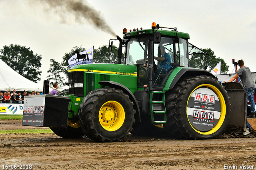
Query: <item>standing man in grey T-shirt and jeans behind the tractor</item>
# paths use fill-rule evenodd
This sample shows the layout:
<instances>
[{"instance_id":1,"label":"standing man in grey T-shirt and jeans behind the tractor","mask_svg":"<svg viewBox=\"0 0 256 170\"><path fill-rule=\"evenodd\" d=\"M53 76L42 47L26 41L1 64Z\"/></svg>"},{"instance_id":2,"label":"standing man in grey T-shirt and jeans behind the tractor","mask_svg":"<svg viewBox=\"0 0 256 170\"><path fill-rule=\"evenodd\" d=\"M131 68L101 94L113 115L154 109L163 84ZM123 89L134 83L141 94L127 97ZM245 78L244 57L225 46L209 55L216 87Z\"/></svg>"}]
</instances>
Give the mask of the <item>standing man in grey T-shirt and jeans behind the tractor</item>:
<instances>
[{"instance_id":1,"label":"standing man in grey T-shirt and jeans behind the tractor","mask_svg":"<svg viewBox=\"0 0 256 170\"><path fill-rule=\"evenodd\" d=\"M234 81L238 76L240 77L244 90L247 93L248 100L251 104L251 114L247 118L255 118L254 83L252 81L251 71L249 67L244 66L244 61L242 59L238 60L238 65L240 69L228 82Z\"/></svg>"}]
</instances>

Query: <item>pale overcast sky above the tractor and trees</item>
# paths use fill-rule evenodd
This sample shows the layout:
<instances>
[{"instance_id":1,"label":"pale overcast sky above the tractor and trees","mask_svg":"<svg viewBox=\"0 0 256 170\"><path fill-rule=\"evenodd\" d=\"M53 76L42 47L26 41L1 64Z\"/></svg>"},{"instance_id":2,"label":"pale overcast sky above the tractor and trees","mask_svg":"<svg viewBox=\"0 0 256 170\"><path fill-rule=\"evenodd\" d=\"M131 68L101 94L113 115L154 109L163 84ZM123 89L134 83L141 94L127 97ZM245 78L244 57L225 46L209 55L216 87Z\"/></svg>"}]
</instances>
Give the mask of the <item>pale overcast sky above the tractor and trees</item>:
<instances>
[{"instance_id":1,"label":"pale overcast sky above the tractor and trees","mask_svg":"<svg viewBox=\"0 0 256 170\"><path fill-rule=\"evenodd\" d=\"M50 59L61 63L75 46L95 49L108 45L109 39L115 38L113 34L122 37L123 28L149 29L156 22L190 34L189 42L199 48L211 48L230 66L228 73L234 73L232 58L243 59L245 66L256 72L255 0L82 0L82 4L90 7L86 11L94 12L84 16L100 16L103 28L44 0L0 0L0 49L13 43L41 54L42 83Z\"/></svg>"}]
</instances>

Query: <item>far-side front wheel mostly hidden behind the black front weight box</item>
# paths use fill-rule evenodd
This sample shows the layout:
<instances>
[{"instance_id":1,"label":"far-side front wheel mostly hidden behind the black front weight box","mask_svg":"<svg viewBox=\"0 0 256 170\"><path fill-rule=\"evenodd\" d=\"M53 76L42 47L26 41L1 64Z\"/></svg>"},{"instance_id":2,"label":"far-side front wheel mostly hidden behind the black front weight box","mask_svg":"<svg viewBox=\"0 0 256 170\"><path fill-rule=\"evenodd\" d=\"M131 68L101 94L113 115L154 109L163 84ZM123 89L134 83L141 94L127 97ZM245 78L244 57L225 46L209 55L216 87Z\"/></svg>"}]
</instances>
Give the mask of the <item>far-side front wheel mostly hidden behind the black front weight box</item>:
<instances>
[{"instance_id":1,"label":"far-side front wheel mostly hidden behind the black front weight box","mask_svg":"<svg viewBox=\"0 0 256 170\"><path fill-rule=\"evenodd\" d=\"M69 93L69 89L64 89L62 91L63 93ZM58 96L61 96L62 93L57 93ZM67 128L54 128L50 127L52 132L54 132L56 135L62 137L62 138L81 138L82 136L85 136L84 132L82 132L82 128L80 127L78 123L78 119L68 119L68 127Z\"/></svg>"}]
</instances>

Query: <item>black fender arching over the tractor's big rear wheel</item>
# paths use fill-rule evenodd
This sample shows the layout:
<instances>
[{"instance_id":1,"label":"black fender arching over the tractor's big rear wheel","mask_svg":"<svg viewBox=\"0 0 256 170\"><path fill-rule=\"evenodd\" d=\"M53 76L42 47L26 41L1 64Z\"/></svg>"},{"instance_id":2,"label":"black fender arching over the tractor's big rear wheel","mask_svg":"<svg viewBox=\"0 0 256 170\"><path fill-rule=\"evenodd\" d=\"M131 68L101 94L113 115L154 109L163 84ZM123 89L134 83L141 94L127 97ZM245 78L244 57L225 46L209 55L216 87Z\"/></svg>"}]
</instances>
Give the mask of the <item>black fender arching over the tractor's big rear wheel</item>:
<instances>
[{"instance_id":1,"label":"black fender arching over the tractor's big rear wheel","mask_svg":"<svg viewBox=\"0 0 256 170\"><path fill-rule=\"evenodd\" d=\"M211 77L217 79L217 77L215 77L212 73L210 73L207 70L191 68L191 67L184 67L174 77L172 83L170 84L169 90L171 90L174 87L174 85L176 85L176 83L183 77L195 77L195 76L200 76L200 75L208 75L208 76L211 76Z\"/></svg>"}]
</instances>

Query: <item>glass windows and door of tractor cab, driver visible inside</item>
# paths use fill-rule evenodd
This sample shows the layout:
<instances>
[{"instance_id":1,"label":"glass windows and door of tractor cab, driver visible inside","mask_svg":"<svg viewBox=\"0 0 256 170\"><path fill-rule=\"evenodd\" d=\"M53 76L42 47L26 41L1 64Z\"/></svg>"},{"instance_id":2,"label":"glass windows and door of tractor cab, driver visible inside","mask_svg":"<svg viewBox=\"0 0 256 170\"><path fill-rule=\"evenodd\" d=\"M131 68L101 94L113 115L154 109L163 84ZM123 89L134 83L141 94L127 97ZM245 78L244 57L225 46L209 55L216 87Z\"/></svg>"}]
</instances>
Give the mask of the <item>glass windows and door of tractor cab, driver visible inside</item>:
<instances>
[{"instance_id":1,"label":"glass windows and door of tractor cab, driver visible inside","mask_svg":"<svg viewBox=\"0 0 256 170\"><path fill-rule=\"evenodd\" d=\"M150 36L144 36L131 38L126 43L125 64L137 65L138 87L147 85L150 79L152 87L162 88L175 67L188 67L187 39L161 36L160 42L152 41Z\"/></svg>"}]
</instances>

